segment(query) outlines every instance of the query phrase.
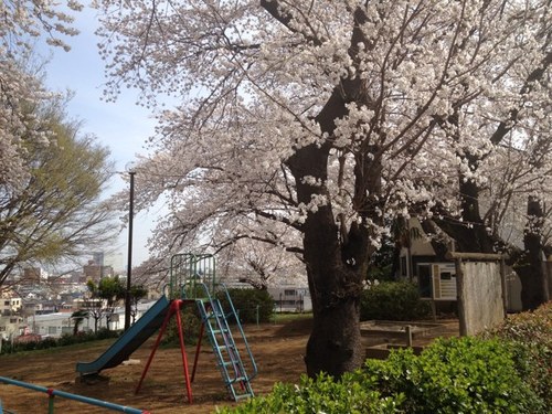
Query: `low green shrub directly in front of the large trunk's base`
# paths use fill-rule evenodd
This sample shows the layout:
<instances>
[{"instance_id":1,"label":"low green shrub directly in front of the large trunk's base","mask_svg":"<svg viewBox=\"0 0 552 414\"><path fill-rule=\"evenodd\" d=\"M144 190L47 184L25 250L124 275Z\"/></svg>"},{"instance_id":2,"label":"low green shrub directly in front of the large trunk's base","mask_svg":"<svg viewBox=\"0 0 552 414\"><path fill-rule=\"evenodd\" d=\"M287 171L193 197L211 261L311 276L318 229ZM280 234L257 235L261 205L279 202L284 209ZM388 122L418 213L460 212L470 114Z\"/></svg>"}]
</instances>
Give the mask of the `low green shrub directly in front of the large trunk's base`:
<instances>
[{"instance_id":1,"label":"low green shrub directly in front of the large trunk's base","mask_svg":"<svg viewBox=\"0 0 552 414\"><path fill-rule=\"evenodd\" d=\"M234 408L222 407L217 413L395 413L395 401L380 397L368 381L368 376L359 376L358 373L344 374L340 381L333 381L328 375L316 380L304 375L299 385L278 383L267 396L248 400Z\"/></svg>"}]
</instances>

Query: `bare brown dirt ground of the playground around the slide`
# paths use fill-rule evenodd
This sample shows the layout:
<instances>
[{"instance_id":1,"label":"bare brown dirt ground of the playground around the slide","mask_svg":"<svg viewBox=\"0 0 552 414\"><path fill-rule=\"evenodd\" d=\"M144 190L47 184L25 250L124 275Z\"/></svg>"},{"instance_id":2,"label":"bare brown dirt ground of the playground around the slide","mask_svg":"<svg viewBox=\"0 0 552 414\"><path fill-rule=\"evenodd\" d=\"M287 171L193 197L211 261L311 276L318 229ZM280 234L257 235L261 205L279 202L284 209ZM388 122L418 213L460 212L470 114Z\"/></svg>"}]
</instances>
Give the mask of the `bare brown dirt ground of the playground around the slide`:
<instances>
[{"instance_id":1,"label":"bare brown dirt ground of the playground around the slide","mask_svg":"<svg viewBox=\"0 0 552 414\"><path fill-rule=\"evenodd\" d=\"M435 336L457 332L438 330ZM256 395L270 392L275 382L297 382L305 372L302 355L310 331L310 320L296 320L285 325L261 325L245 327L247 341L258 367L258 375L252 385ZM415 338L427 343L433 335ZM396 342L396 338L381 335L367 339L373 343ZM216 406L234 405L223 385L221 374L209 343L202 347L198 372L192 383L193 404L189 404L182 358L179 348L161 348L157 351L139 394L135 394L144 367L150 354L153 339L147 341L132 355L129 364L102 372L103 379L81 383L75 363L96 359L109 341L78 344L46 351L34 351L0 357L0 375L45 388L81 394L135 408L161 413L212 413ZM193 364L193 347L187 348L188 361ZM76 380L76 381L75 381ZM47 397L43 393L0 384L0 400L4 410L17 414L46 413ZM106 408L84 405L64 399L55 399L55 413L109 413Z\"/></svg>"}]
</instances>

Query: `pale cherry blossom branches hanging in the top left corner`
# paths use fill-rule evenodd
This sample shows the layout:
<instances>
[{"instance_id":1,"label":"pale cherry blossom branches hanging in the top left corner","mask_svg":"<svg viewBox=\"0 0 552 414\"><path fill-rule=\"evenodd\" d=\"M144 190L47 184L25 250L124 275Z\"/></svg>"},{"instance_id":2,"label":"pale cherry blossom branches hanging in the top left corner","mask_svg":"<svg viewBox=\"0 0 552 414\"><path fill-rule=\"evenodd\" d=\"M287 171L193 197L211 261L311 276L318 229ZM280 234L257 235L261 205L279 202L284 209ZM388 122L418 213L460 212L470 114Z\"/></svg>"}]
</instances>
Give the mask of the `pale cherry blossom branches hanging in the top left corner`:
<instances>
[{"instance_id":1,"label":"pale cherry blossom branches hanging in the top left corner","mask_svg":"<svg viewBox=\"0 0 552 414\"><path fill-rule=\"evenodd\" d=\"M79 10L75 0L65 1L67 10ZM25 141L46 145L49 131L39 127L28 105L47 99L49 94L35 75L22 66L33 42L45 38L47 44L68 50L63 42L74 35L72 17L53 0L4 0L0 3L0 187L12 191L24 181L28 170L22 160Z\"/></svg>"}]
</instances>

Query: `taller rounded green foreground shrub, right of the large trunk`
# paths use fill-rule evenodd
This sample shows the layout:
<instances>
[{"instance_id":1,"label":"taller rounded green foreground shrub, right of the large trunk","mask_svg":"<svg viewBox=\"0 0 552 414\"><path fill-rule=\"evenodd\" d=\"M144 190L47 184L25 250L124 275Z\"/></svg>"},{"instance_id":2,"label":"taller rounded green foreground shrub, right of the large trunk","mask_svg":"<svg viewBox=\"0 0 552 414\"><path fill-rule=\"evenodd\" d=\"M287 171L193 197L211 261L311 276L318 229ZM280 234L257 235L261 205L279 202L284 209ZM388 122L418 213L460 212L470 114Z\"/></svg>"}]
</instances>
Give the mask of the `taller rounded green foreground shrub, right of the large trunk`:
<instances>
[{"instance_id":1,"label":"taller rounded green foreground shrub, right of the large trunk","mask_svg":"<svg viewBox=\"0 0 552 414\"><path fill-rule=\"evenodd\" d=\"M407 413L545 413L497 340L440 339L420 357L395 351L385 361L368 360L365 370L384 396L404 397Z\"/></svg>"}]
</instances>

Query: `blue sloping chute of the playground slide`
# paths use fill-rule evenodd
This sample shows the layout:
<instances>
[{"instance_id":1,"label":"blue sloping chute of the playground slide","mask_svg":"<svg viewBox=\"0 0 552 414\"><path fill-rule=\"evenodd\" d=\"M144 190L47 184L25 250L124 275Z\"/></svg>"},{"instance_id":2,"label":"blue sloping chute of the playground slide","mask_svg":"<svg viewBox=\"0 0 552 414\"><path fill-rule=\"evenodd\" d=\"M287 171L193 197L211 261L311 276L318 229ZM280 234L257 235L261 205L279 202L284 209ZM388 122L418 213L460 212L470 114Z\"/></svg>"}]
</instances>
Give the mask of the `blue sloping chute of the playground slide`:
<instances>
[{"instance_id":1,"label":"blue sloping chute of the playground slide","mask_svg":"<svg viewBox=\"0 0 552 414\"><path fill-rule=\"evenodd\" d=\"M117 367L128 359L149 337L156 333L163 323L169 311L170 301L163 295L136 321L114 344L93 362L77 362L76 371L81 375L99 373L99 371Z\"/></svg>"}]
</instances>

